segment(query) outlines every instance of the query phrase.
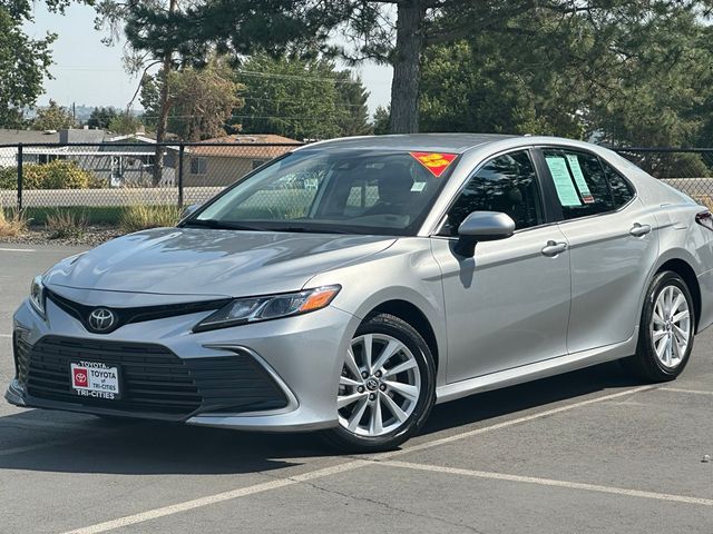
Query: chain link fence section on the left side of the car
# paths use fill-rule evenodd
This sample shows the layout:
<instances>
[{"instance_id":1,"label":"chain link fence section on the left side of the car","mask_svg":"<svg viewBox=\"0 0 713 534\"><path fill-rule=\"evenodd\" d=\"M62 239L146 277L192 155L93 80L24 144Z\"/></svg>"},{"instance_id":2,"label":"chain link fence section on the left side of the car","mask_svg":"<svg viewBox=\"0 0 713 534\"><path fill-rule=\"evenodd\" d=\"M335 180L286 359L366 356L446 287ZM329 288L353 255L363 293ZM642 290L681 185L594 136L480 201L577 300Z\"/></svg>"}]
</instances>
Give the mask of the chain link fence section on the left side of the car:
<instances>
[{"instance_id":1,"label":"chain link fence section on the left side of the car","mask_svg":"<svg viewBox=\"0 0 713 534\"><path fill-rule=\"evenodd\" d=\"M84 208L205 202L300 144L0 145L0 207Z\"/></svg>"}]
</instances>

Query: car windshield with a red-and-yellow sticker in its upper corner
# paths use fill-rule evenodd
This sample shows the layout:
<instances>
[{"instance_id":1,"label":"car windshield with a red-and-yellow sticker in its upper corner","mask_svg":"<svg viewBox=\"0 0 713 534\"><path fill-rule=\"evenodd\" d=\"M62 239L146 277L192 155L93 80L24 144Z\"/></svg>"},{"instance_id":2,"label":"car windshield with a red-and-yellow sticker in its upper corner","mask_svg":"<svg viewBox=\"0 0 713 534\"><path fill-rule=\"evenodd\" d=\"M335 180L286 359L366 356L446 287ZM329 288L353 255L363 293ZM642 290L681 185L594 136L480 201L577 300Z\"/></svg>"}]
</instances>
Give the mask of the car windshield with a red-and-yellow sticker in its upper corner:
<instances>
[{"instance_id":1,"label":"car windshield with a red-and-yellow sticker in its upper corner","mask_svg":"<svg viewBox=\"0 0 713 534\"><path fill-rule=\"evenodd\" d=\"M233 186L184 226L413 235L455 158L429 152L299 150Z\"/></svg>"}]
</instances>

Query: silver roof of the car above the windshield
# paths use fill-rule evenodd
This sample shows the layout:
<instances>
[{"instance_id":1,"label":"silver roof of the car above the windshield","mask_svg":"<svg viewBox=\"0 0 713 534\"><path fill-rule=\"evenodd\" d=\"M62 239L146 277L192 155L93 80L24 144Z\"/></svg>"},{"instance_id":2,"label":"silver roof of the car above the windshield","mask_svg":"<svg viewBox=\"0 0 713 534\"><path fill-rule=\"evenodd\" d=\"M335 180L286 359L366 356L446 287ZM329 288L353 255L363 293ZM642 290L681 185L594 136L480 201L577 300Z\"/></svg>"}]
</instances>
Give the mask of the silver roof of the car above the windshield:
<instances>
[{"instance_id":1,"label":"silver roof of the car above the windshield","mask_svg":"<svg viewBox=\"0 0 713 534\"><path fill-rule=\"evenodd\" d=\"M300 148L345 148L462 154L476 147L521 136L498 134L406 134L390 136L345 137L319 141Z\"/></svg>"}]
</instances>

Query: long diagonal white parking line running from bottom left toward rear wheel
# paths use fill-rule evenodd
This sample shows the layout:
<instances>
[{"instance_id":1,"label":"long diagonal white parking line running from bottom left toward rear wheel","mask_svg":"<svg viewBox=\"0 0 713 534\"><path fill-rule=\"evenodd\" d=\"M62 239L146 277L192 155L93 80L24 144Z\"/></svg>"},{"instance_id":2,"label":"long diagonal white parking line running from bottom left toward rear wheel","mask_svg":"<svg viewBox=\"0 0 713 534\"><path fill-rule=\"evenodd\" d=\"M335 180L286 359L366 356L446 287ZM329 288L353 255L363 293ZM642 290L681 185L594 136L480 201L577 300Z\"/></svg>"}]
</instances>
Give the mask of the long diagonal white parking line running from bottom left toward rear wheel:
<instances>
[{"instance_id":1,"label":"long diagonal white parking line running from bottom left toward rear wheel","mask_svg":"<svg viewBox=\"0 0 713 534\"><path fill-rule=\"evenodd\" d=\"M500 428L506 428L508 426L512 426L512 425L518 425L528 421L535 421L535 419L539 419L541 417L548 417L550 415L554 414L559 414L561 412L567 412L570 409L575 409L575 408L579 408L582 406L588 406L590 404L595 404L595 403L602 403L602 402L606 402L606 400L611 400L614 398L618 398L618 397L623 397L626 395L634 395L636 393L639 392L645 392L647 389L652 389L656 387L655 385L651 385L651 386L642 386L642 387L634 387L631 389L625 389L623 392L618 392L618 393L614 393L611 395L604 395L602 397L597 397L597 398L590 398L588 400L583 400L579 403L574 403L574 404L568 404L565 406L560 406L558 408L554 408L554 409L548 409L545 412L539 412L537 414L531 414L525 417L518 417L516 419L511 419L511 421L506 421L504 423L498 423L496 425L490 425L490 426L486 426L482 428L477 428L475 431L469 431L469 432L463 432L461 434L456 434L455 436L449 436L449 437L445 437L441 439L432 439L426 443L421 443L419 445L413 445L411 447L406 447L402 448L401 451L393 451L390 453L381 453L381 454L377 454L371 456L371 461L368 459L353 459L351 462L344 463L344 464L340 464L336 465L334 467L326 467L323 469L316 469L316 471L312 471L309 473L305 473L303 475L299 475L299 476L294 476L294 477L285 477L285 478L277 478L275 481L272 482L267 482L267 483L262 483L262 484L255 484L252 486L247 486L247 487L241 487L237 490L233 490L229 492L224 492L224 493L218 493L215 495L208 495L205 497L201 497L201 498L196 498L193 501L186 501L184 503L177 503L177 504L173 504L173 505L168 505L168 506L163 506L160 508L155 508L155 510L148 510L146 512L141 512L138 514L134 514L134 515L127 515L125 517L119 517L117 520L111 520L111 521L107 521L104 523L98 523L96 525L90 525L90 526L86 526L86 527L81 527L81 528L77 528L75 531L69 531L69 532L65 532L64 534L98 534L101 532L108 532L108 531L114 531L116 528L120 528L123 526L127 526L127 525L134 525L136 523L143 523L145 521L150 521L157 517L165 517L167 515L173 515L173 514L178 514L180 512L185 512L187 510L194 510L194 508L199 508L203 506L208 506L211 504L214 503L219 503L219 502L224 502L224 501L231 501L234 498L241 498L247 495L254 495L255 493L263 493L263 492L267 492L271 490L276 490L280 487L285 487L285 486L291 486L294 485L296 483L300 482L305 482L305 481L312 481L314 478L321 478L321 477L325 477L325 476L330 476L336 473L343 473L345 471L352 471L352 469L356 469L359 467L365 466L365 465L373 465L373 461L385 461L387 458L391 458L393 456L397 455L402 455L402 454L408 454L408 453L412 453L414 451L422 451L424 448L431 448L431 447L437 447L439 445L443 445L446 443L452 443L456 442L458 439L465 439L467 437L470 436L475 436L478 434L482 434L486 432L490 432L490 431L497 431Z\"/></svg>"}]
</instances>

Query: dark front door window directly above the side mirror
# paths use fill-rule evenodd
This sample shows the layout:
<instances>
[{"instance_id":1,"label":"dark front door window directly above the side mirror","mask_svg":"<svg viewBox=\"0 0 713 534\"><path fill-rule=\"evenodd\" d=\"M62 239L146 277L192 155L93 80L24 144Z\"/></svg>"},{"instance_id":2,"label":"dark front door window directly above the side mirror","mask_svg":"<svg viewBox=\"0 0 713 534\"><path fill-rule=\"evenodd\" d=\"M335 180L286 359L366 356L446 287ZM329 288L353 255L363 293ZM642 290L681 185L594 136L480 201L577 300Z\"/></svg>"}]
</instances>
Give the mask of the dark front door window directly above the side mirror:
<instances>
[{"instance_id":1,"label":"dark front door window directly above the side mirror","mask_svg":"<svg viewBox=\"0 0 713 534\"><path fill-rule=\"evenodd\" d=\"M473 211L502 211L515 220L516 229L544 222L543 202L535 167L527 151L510 152L488 161L448 212L448 233Z\"/></svg>"}]
</instances>

